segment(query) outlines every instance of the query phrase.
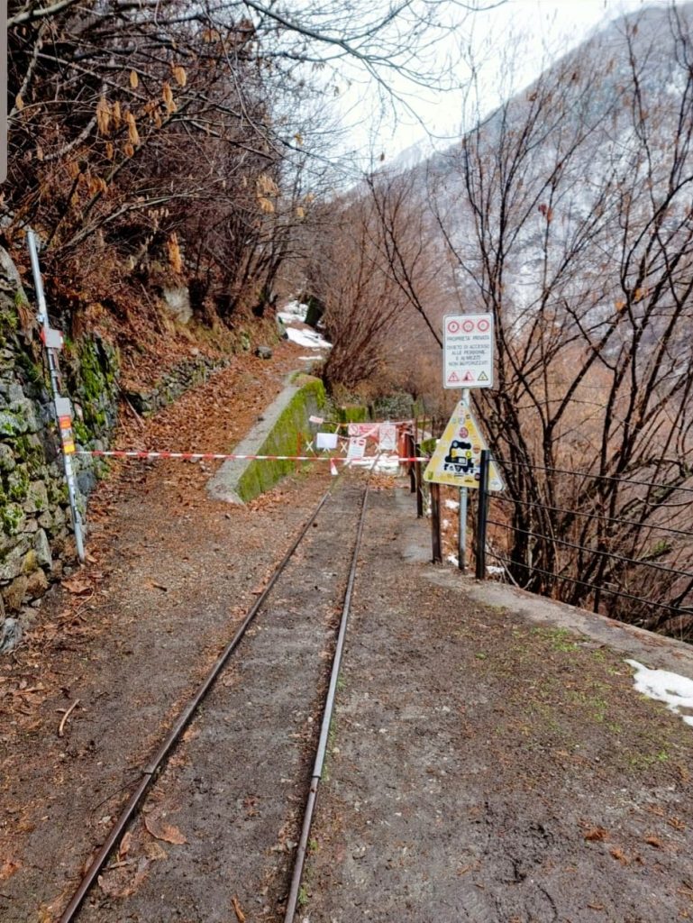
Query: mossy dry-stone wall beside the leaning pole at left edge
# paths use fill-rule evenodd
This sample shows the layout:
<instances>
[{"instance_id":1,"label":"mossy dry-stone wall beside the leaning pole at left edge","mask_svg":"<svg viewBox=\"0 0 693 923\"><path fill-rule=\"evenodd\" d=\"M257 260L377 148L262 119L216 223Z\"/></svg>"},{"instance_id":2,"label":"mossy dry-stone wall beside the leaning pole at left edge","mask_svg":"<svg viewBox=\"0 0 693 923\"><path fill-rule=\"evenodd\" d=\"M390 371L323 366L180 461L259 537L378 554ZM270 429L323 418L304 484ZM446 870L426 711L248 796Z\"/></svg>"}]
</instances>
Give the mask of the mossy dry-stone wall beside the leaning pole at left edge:
<instances>
[{"instance_id":1,"label":"mossy dry-stone wall beside the leaning pole at left edge","mask_svg":"<svg viewBox=\"0 0 693 923\"><path fill-rule=\"evenodd\" d=\"M76 552L60 441L35 312L0 249L0 652L18 641L49 582ZM115 424L116 356L96 336L61 356L79 442L104 447ZM69 382L69 385L68 385ZM78 462L79 504L95 481Z\"/></svg>"}]
</instances>

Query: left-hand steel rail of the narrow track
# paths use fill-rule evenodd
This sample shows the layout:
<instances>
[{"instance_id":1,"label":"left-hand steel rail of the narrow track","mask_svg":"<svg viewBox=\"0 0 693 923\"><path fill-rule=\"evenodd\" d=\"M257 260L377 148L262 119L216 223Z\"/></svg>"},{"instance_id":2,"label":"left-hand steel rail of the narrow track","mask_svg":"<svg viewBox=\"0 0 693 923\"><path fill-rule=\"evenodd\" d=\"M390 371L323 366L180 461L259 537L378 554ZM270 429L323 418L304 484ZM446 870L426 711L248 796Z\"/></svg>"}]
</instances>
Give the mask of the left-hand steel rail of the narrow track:
<instances>
[{"instance_id":1,"label":"left-hand steel rail of the narrow track","mask_svg":"<svg viewBox=\"0 0 693 923\"><path fill-rule=\"evenodd\" d=\"M90 888L92 887L94 882L97 880L99 873L102 871L103 866L106 863L106 860L108 859L111 852L114 850L114 847L118 845L118 843L120 842L122 836L125 833L127 825L130 823L130 821L133 820L133 818L137 814L137 808L139 807L139 805L142 802L143 797L147 793L147 790L149 789L149 785L152 784L157 774L163 768L166 758L168 757L169 753L175 746L179 737L181 737L183 731L185 730L185 727L188 725L191 718L197 711L197 707L204 700L205 696L209 692L209 689L211 689L215 680L219 677L221 670L226 665L226 662L228 661L233 651L238 647L240 641L243 639L243 636L245 635L246 629L249 627L253 619L257 616L257 612L260 610L260 608L264 604L270 591L272 590L272 587L279 580L281 573L286 568L286 565L289 563L290 559L293 557L293 553L295 552L298 545L300 545L301 542L303 541L305 534L308 532L308 529L311 527L313 522L317 519L317 514L319 513L320 509L323 508L325 502L327 501L331 493L332 493L332 487L330 486L330 489L320 499L319 503L317 504L316 509L313 510L309 519L305 522L305 524L301 528L300 532L298 533L298 536L293 541L293 544L291 545L289 550L286 552L284 557L281 558L280 564L277 566L277 568L274 570L274 573L269 578L269 582L267 586L265 587L265 589L257 597L257 601L254 603L254 605L251 606L240 628L233 635L232 640L229 641L229 643L223 649L223 651L217 658L216 662L209 670L207 677L205 677L201 685L197 688L197 691L194 693L193 697L187 702L187 704L185 705L185 708L179 714L178 718L174 722L170 731L168 732L166 737L163 739L159 749L156 751L154 756L149 760L147 765L143 767L141 771L142 778L137 784L137 787L135 788L135 790L130 795L130 798L127 801L127 804L125 805L125 808L118 815L118 818L116 819L114 826L111 829L111 832L108 834L108 837L106 838L102 847L99 849L99 852L93 858L89 869L87 869L82 880L79 882L77 891L73 894L72 898L70 899L69 904L66 906L66 909L63 911L62 916L59 917L59 923L71 923L71 921L74 920L76 914L78 913L79 907L84 901L84 898L90 892Z\"/></svg>"}]
</instances>

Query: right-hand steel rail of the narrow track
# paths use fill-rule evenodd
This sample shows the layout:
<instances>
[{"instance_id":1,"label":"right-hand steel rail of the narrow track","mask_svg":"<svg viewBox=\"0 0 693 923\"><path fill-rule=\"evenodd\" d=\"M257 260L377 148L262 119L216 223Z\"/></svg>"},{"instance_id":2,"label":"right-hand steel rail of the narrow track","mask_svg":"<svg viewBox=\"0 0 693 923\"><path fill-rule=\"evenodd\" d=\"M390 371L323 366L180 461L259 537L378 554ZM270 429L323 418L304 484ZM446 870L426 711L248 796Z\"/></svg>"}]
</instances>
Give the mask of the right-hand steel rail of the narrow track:
<instances>
[{"instance_id":1,"label":"right-hand steel rail of the narrow track","mask_svg":"<svg viewBox=\"0 0 693 923\"><path fill-rule=\"evenodd\" d=\"M375 470L375 464L373 467ZM301 836L299 838L298 845L296 846L296 855L293 860L292 883L289 890L289 897L287 899L284 923L293 923L293 917L296 913L296 905L298 904L298 895L301 888L301 878L303 876L305 865L305 855L308 849L308 837L310 835L310 828L313 822L313 813L315 811L317 801L317 787L320 784L323 766L325 764L325 756L328 749L329 725L332 723L332 711L334 709L335 694L337 692L337 682L340 676L341 655L344 650L344 640L346 638L349 613L352 608L353 585L356 580L356 564L358 562L359 551L361 550L361 539L364 533L365 506L367 499L368 485L366 484L364 490L364 498L361 504L361 516L359 519L358 529L356 531L356 541L353 545L352 566L349 570L349 580L347 581L347 587L344 593L344 602L341 607L340 631L337 636L334 657L332 658L332 670L329 676L329 689L327 698L325 700L322 724L320 725L320 737L317 743L316 760L313 765L313 774L310 778L308 797L306 798L305 802L304 822L301 828Z\"/></svg>"}]
</instances>

